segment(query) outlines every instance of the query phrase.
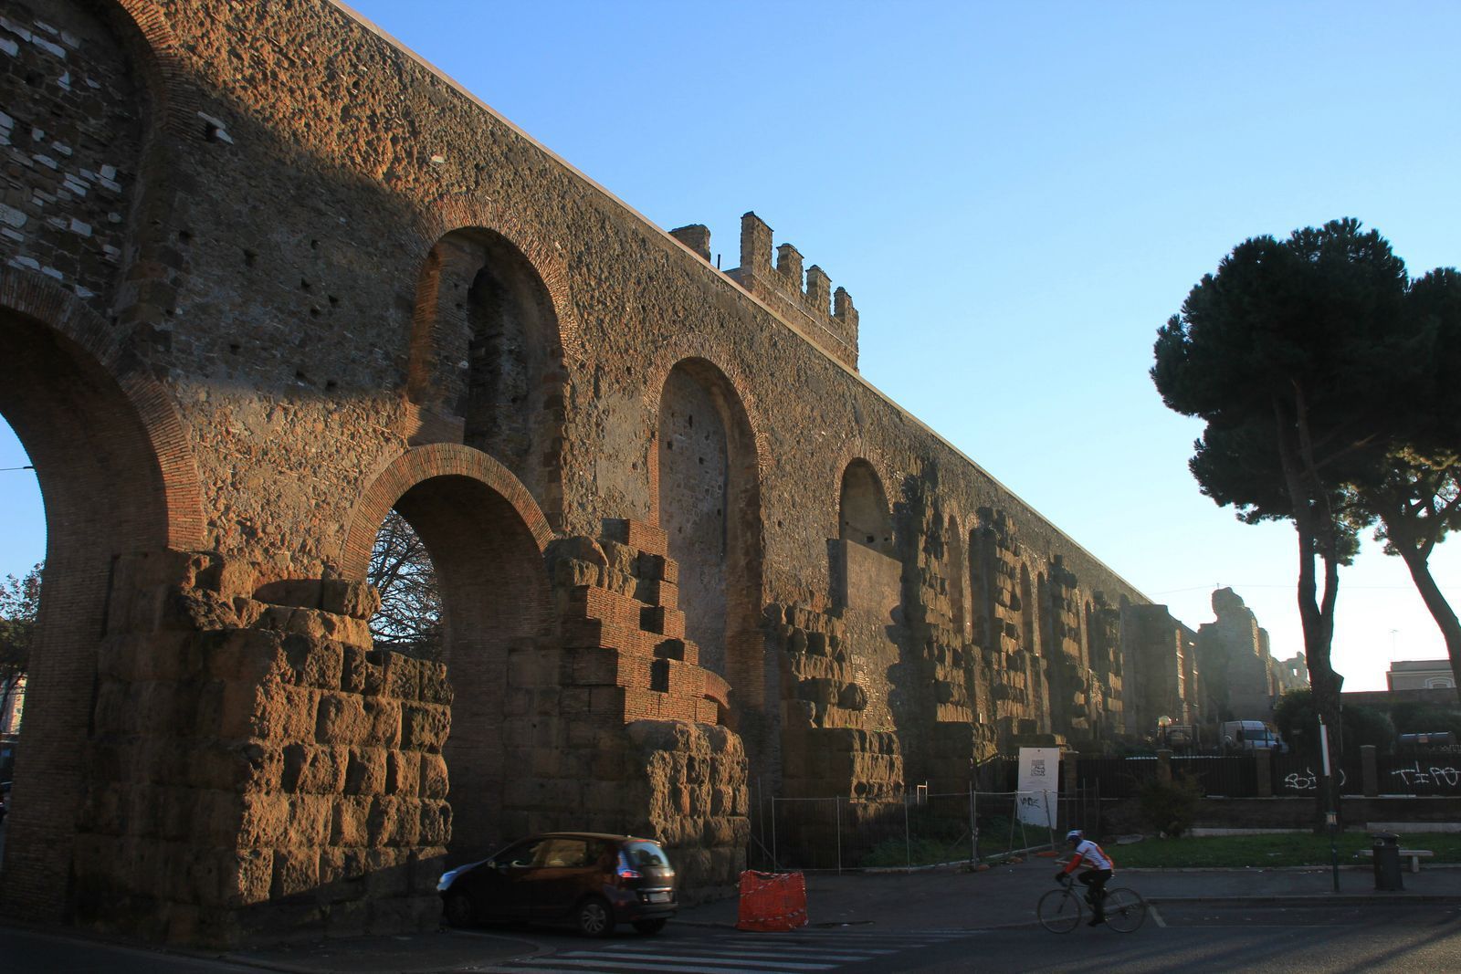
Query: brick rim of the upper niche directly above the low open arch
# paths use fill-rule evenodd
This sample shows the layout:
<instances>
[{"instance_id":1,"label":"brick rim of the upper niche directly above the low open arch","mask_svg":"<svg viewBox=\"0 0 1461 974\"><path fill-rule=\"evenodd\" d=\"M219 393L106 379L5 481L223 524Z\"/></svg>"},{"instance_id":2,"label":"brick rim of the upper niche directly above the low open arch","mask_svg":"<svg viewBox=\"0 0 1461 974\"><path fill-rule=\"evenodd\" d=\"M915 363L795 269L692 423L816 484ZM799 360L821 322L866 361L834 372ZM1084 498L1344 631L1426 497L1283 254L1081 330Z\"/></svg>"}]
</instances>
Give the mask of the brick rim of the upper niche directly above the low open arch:
<instances>
[{"instance_id":1,"label":"brick rim of the upper niche directly above the low open arch","mask_svg":"<svg viewBox=\"0 0 1461 974\"><path fill-rule=\"evenodd\" d=\"M492 231L522 253L542 280L558 324L557 346L548 349L549 358L558 361L562 368L567 368L567 362L581 362L583 342L579 334L579 318L573 311L567 258L541 231L487 197L444 196L421 212L415 228L419 257L411 263L408 280L403 282L408 292L415 295L416 277L431 248L447 234L470 229Z\"/></svg>"}]
</instances>

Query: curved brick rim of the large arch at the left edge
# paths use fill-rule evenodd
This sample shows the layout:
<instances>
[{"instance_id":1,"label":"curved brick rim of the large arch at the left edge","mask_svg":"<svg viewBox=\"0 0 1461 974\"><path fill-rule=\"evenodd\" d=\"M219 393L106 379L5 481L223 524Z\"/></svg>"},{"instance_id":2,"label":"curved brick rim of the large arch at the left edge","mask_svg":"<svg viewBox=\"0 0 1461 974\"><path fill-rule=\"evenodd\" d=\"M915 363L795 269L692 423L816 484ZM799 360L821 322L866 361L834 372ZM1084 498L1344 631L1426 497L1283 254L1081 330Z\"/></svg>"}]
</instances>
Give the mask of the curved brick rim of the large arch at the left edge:
<instances>
[{"instance_id":1,"label":"curved brick rim of the large arch at the left edge","mask_svg":"<svg viewBox=\"0 0 1461 974\"><path fill-rule=\"evenodd\" d=\"M123 362L118 330L70 291L18 267L0 269L0 308L53 329L115 380L136 410L161 472L167 507L164 543L181 551L206 548L202 478L177 406L156 380Z\"/></svg>"}]
</instances>

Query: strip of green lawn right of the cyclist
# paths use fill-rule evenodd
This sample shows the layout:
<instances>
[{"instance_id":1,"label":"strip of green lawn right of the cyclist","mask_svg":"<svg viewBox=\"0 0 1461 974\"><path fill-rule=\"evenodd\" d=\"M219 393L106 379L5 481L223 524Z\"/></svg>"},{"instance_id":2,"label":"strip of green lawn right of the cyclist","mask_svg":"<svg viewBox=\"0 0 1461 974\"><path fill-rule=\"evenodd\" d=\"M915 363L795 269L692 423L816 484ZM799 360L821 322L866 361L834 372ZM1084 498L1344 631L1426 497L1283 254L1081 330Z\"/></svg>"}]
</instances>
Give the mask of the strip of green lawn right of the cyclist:
<instances>
[{"instance_id":1,"label":"strip of green lawn right of the cyclist","mask_svg":"<svg viewBox=\"0 0 1461 974\"><path fill-rule=\"evenodd\" d=\"M1312 832L1284 835L1201 835L1147 838L1132 845L1102 845L1116 860L1116 869L1262 869L1265 866L1328 866L1330 837ZM1369 863L1356 856L1370 848L1367 832L1341 832L1340 864ZM1461 863L1461 834L1417 832L1400 837L1401 848L1429 848L1432 863Z\"/></svg>"}]
</instances>

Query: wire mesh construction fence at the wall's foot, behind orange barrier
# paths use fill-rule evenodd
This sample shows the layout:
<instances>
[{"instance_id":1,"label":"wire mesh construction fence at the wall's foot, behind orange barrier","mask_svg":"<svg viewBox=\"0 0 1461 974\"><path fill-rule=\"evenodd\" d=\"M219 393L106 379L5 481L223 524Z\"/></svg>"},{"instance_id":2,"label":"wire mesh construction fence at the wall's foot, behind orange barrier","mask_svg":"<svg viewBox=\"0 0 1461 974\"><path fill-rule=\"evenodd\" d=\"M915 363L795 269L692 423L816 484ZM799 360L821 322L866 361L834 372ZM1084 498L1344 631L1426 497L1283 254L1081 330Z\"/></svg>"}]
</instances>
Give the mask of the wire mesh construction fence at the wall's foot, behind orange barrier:
<instances>
[{"instance_id":1,"label":"wire mesh construction fence at the wall's foot, behind orange barrier","mask_svg":"<svg viewBox=\"0 0 1461 974\"><path fill-rule=\"evenodd\" d=\"M1094 813L1090 802L1080 793L973 787L954 793L919 787L891 802L766 797L752 829L751 864L840 872L999 860L1055 847L1068 822Z\"/></svg>"}]
</instances>

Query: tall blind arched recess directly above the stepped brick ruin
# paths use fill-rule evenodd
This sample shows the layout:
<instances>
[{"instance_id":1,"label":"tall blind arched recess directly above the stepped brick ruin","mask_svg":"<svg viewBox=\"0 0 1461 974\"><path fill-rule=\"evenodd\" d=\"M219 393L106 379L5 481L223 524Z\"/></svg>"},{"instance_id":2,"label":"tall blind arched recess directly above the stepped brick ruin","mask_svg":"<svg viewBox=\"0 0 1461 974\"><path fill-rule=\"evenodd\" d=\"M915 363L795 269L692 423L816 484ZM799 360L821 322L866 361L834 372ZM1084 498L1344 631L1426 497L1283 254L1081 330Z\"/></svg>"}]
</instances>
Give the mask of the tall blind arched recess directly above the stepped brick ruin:
<instances>
[{"instance_id":1,"label":"tall blind arched recess directly above the stepped brick ruin","mask_svg":"<svg viewBox=\"0 0 1461 974\"><path fill-rule=\"evenodd\" d=\"M685 635L700 647L700 664L730 683L730 724L741 729L748 711L766 705L761 488L745 407L710 362L685 359L669 371L655 461Z\"/></svg>"}]
</instances>

